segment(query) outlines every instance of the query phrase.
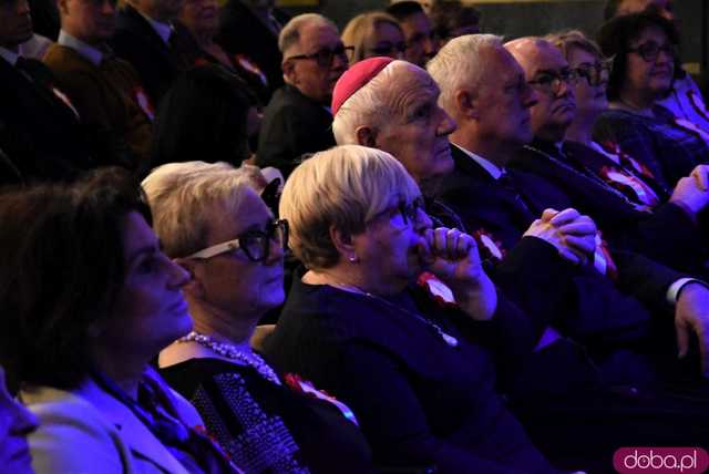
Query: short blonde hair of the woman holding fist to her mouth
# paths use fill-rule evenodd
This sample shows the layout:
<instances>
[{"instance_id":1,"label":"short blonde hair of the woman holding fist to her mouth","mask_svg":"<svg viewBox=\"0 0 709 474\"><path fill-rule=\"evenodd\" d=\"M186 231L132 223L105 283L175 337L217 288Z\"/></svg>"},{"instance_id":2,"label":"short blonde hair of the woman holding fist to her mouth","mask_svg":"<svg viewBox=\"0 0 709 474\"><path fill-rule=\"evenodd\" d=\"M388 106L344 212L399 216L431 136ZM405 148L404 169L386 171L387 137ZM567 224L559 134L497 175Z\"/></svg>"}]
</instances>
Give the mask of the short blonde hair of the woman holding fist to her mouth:
<instances>
[{"instance_id":1,"label":"short blonde hair of the woman holding fist to her mouth","mask_svg":"<svg viewBox=\"0 0 709 474\"><path fill-rule=\"evenodd\" d=\"M346 235L366 230L367 223L391 206L421 193L407 169L381 150L336 146L316 153L288 177L279 214L288 220L289 244L310 269L330 268L340 255L330 238L333 226Z\"/></svg>"}]
</instances>

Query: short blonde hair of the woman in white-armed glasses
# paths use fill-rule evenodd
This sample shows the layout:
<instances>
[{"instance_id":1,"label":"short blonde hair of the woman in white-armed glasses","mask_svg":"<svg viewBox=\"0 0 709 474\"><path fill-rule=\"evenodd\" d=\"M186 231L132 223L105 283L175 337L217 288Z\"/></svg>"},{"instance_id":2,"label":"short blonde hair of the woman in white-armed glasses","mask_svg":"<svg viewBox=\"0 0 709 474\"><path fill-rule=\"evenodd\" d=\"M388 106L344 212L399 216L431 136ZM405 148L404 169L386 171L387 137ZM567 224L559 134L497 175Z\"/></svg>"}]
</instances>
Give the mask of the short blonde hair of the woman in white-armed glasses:
<instances>
[{"instance_id":1,"label":"short blonde hair of the woman in white-armed glasses","mask_svg":"<svg viewBox=\"0 0 709 474\"><path fill-rule=\"evenodd\" d=\"M186 257L204 248L210 210L233 216L247 189L257 190L259 176L255 166L234 168L227 163L168 163L153 169L143 179L143 189L165 254Z\"/></svg>"}]
</instances>

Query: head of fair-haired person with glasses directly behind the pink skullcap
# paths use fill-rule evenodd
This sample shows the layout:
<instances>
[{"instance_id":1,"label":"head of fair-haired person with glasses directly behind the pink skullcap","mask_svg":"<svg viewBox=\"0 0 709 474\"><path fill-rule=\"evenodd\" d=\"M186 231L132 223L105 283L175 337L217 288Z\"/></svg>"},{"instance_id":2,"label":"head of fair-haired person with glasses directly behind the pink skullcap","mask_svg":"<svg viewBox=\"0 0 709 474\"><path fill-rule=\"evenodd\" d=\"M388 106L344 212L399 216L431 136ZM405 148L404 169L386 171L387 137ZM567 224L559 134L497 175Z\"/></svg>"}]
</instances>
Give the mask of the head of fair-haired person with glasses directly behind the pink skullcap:
<instances>
[{"instance_id":1,"label":"head of fair-haired person with glasses directly behind the pink skullcap","mask_svg":"<svg viewBox=\"0 0 709 474\"><path fill-rule=\"evenodd\" d=\"M349 21L342 31L342 42L351 47L350 65L367 58L403 59L407 42L401 25L383 11L362 13Z\"/></svg>"}]
</instances>

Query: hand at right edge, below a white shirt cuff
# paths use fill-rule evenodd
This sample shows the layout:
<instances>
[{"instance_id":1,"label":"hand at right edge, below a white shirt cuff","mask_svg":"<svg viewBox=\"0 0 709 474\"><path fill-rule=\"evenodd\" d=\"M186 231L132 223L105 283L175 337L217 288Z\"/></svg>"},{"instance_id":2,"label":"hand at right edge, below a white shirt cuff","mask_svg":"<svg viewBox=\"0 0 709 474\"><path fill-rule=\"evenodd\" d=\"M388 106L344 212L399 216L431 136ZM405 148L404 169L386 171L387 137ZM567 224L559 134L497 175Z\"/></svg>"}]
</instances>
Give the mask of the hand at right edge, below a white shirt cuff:
<instances>
[{"instance_id":1,"label":"hand at right edge, below a white shirt cuff","mask_svg":"<svg viewBox=\"0 0 709 474\"><path fill-rule=\"evenodd\" d=\"M709 289L699 284L687 284L675 307L675 329L679 358L689 351L689 334L699 339L701 372L709 377Z\"/></svg>"}]
</instances>

